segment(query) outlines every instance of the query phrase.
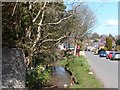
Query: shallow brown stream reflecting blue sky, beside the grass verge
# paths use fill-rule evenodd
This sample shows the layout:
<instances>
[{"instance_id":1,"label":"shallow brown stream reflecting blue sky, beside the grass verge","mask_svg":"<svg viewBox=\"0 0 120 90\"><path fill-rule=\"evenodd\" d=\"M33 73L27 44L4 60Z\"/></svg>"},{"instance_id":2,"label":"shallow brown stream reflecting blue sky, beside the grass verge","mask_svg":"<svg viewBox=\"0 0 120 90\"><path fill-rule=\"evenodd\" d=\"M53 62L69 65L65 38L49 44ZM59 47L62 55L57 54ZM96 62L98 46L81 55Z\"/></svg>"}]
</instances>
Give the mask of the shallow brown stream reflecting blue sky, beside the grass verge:
<instances>
[{"instance_id":1,"label":"shallow brown stream reflecting blue sky, beside the grass verge","mask_svg":"<svg viewBox=\"0 0 120 90\"><path fill-rule=\"evenodd\" d=\"M64 67L57 66L56 64L52 67L52 84L58 88L64 88L64 85L70 86L71 77L70 74L65 71Z\"/></svg>"}]
</instances>

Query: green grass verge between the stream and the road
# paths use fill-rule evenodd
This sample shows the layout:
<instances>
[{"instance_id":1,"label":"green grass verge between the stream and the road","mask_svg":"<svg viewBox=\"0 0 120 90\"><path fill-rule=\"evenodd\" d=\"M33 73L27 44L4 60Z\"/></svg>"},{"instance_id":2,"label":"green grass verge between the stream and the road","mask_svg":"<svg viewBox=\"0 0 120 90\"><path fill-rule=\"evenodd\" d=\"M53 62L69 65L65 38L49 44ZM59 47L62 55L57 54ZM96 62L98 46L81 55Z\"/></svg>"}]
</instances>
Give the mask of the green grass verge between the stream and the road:
<instances>
[{"instance_id":1,"label":"green grass verge between the stream and the road","mask_svg":"<svg viewBox=\"0 0 120 90\"><path fill-rule=\"evenodd\" d=\"M95 75L90 75L90 66L86 58L71 57L69 60L60 61L61 66L68 64L67 68L72 72L78 84L74 84L70 88L102 88L102 84L95 78Z\"/></svg>"}]
</instances>

